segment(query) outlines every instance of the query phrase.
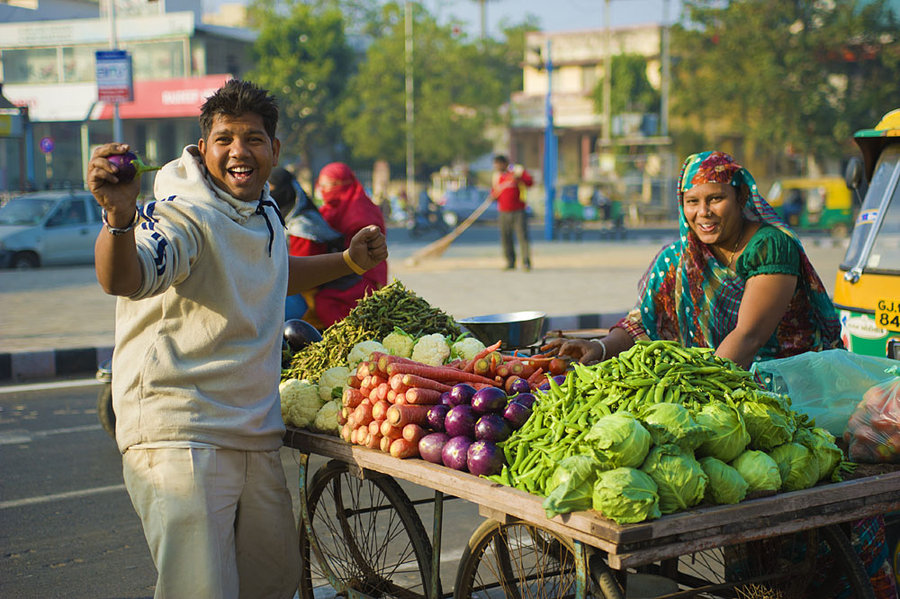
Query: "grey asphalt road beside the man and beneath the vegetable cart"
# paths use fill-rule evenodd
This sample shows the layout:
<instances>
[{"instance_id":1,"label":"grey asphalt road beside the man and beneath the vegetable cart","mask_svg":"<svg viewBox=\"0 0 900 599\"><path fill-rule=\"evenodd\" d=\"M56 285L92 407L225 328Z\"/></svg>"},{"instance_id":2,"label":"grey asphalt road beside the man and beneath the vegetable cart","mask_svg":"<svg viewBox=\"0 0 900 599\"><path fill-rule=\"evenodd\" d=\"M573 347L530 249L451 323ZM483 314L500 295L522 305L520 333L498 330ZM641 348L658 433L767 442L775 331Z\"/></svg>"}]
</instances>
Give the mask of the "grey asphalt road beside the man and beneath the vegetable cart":
<instances>
[{"instance_id":1,"label":"grey asphalt road beside the man and beneath the vegetable cart","mask_svg":"<svg viewBox=\"0 0 900 599\"><path fill-rule=\"evenodd\" d=\"M90 381L88 381L90 383ZM97 422L98 386L0 388L0 597L149 599L156 572L122 480L121 457ZM294 505L298 454L282 449ZM313 456L313 470L323 463ZM401 481L413 501L433 493ZM431 533L430 503L417 506ZM447 501L441 577L455 579L477 507ZM317 597L332 597L330 587Z\"/></svg>"}]
</instances>

